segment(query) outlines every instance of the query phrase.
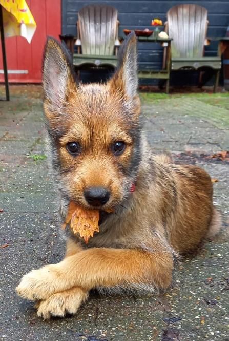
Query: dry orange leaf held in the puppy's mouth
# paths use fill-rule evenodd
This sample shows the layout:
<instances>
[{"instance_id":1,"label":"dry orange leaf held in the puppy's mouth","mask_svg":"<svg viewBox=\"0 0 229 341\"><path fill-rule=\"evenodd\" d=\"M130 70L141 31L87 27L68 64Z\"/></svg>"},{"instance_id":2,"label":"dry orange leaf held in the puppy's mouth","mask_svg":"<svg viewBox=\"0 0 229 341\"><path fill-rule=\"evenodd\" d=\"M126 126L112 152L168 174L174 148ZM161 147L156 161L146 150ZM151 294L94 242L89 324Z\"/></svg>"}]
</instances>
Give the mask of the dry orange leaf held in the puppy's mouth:
<instances>
[{"instance_id":1,"label":"dry orange leaf held in the puppy's mouth","mask_svg":"<svg viewBox=\"0 0 229 341\"><path fill-rule=\"evenodd\" d=\"M70 222L70 227L74 234L79 233L81 238L84 238L86 244L90 237L93 237L94 232L99 232L99 211L98 210L85 210L70 202L68 215L63 224L63 229Z\"/></svg>"}]
</instances>

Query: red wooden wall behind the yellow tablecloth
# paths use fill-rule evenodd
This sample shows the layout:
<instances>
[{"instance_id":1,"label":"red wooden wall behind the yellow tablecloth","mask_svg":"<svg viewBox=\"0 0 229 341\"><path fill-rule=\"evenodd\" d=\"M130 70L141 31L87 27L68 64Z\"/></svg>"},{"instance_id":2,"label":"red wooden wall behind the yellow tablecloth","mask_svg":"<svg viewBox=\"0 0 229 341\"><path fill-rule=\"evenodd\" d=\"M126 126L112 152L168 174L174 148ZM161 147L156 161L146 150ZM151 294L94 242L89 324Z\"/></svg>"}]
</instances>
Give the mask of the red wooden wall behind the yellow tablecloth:
<instances>
[{"instance_id":1,"label":"red wooden wall behind the yellow tablecloth","mask_svg":"<svg viewBox=\"0 0 229 341\"><path fill-rule=\"evenodd\" d=\"M37 24L29 44L23 37L5 39L8 70L28 70L27 74L8 74L11 83L40 83L41 61L47 35L61 34L61 0L26 0ZM3 69L0 44L0 69ZM4 74L0 74L4 82Z\"/></svg>"}]
</instances>

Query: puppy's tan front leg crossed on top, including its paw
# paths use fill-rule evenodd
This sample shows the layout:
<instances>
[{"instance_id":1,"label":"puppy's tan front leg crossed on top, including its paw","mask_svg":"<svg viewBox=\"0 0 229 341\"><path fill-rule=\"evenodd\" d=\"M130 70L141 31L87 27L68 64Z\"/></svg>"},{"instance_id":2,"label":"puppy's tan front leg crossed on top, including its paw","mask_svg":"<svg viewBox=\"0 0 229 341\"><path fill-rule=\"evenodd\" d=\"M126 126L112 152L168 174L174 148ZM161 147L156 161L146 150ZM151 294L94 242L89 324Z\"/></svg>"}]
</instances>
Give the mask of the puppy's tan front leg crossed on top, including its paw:
<instances>
[{"instance_id":1,"label":"puppy's tan front leg crossed on top, including its paw","mask_svg":"<svg viewBox=\"0 0 229 341\"><path fill-rule=\"evenodd\" d=\"M55 265L33 270L22 278L17 293L30 300L80 287L153 284L167 288L172 279L173 256L168 250L154 253L129 249L91 248L66 257Z\"/></svg>"}]
</instances>

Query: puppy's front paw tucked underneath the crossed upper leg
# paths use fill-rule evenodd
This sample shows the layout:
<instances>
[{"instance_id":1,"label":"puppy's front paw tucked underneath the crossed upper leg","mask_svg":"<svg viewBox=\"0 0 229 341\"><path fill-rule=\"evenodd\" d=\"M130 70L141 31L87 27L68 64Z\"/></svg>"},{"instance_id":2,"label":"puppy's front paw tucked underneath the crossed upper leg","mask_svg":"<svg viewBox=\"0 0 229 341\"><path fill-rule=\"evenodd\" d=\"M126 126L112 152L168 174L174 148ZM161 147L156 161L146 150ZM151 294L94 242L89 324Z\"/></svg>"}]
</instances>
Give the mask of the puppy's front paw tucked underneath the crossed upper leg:
<instances>
[{"instance_id":1,"label":"puppy's front paw tucked underneath the crossed upper leg","mask_svg":"<svg viewBox=\"0 0 229 341\"><path fill-rule=\"evenodd\" d=\"M88 292L81 288L71 288L50 296L47 300L36 303L37 316L49 319L51 316L64 317L67 313L75 314L82 302L88 299Z\"/></svg>"}]
</instances>

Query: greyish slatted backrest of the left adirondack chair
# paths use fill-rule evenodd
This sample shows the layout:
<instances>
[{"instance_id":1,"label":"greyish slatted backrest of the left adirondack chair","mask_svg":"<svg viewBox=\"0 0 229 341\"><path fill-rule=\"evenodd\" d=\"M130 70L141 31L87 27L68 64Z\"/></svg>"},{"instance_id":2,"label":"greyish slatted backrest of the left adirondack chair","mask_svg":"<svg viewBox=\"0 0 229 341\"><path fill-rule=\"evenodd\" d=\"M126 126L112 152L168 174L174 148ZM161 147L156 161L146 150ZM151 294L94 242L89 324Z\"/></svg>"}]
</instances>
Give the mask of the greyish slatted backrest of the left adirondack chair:
<instances>
[{"instance_id":1,"label":"greyish slatted backrest of the left adirondack chair","mask_svg":"<svg viewBox=\"0 0 229 341\"><path fill-rule=\"evenodd\" d=\"M78 12L82 54L113 55L118 11L107 5L89 5Z\"/></svg>"}]
</instances>

